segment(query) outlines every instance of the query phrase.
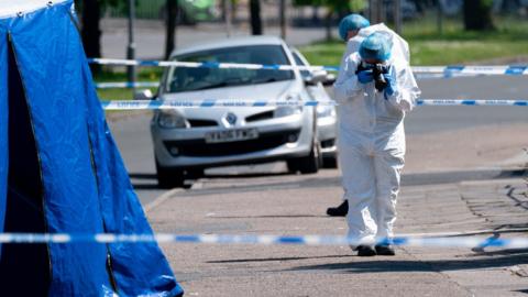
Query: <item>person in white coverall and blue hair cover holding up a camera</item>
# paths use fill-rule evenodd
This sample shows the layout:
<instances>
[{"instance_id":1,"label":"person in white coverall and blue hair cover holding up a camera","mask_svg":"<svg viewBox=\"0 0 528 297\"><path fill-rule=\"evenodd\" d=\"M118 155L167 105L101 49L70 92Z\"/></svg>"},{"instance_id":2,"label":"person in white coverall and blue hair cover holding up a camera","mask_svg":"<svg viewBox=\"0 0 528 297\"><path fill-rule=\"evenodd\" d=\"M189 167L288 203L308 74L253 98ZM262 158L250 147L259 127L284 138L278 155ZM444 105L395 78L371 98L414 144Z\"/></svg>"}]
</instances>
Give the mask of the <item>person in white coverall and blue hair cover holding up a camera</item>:
<instances>
[{"instance_id":1,"label":"person in white coverall and blue hair cover holding up a camera","mask_svg":"<svg viewBox=\"0 0 528 297\"><path fill-rule=\"evenodd\" d=\"M344 59L334 84L348 235L358 240L351 248L360 256L395 254L389 240L373 245L393 237L405 156L404 117L420 95L397 43L387 32L370 34L359 52Z\"/></svg>"}]
</instances>

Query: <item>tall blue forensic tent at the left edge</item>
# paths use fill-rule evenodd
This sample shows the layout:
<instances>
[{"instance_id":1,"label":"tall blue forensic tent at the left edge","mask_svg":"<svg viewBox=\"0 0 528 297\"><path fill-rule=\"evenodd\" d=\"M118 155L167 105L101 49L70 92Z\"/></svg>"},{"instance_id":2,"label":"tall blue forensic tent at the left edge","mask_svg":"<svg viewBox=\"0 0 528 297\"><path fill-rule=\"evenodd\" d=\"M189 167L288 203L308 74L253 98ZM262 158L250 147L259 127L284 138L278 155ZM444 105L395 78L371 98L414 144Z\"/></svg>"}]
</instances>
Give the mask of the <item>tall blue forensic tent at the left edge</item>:
<instances>
[{"instance_id":1,"label":"tall blue forensic tent at the left edge","mask_svg":"<svg viewBox=\"0 0 528 297\"><path fill-rule=\"evenodd\" d=\"M0 232L152 233L73 0L0 2ZM156 243L3 244L1 296L178 296Z\"/></svg>"}]
</instances>

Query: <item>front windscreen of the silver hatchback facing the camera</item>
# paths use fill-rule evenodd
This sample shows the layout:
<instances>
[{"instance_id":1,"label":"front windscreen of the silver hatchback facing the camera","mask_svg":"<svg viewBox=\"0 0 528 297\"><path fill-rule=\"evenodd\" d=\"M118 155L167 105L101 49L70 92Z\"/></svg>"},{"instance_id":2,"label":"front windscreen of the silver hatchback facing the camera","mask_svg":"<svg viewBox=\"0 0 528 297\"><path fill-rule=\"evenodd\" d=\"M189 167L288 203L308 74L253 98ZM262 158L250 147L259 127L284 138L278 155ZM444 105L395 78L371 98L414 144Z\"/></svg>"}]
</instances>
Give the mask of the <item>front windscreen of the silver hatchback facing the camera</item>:
<instances>
[{"instance_id":1,"label":"front windscreen of the silver hatchback facing the camera","mask_svg":"<svg viewBox=\"0 0 528 297\"><path fill-rule=\"evenodd\" d=\"M290 65L280 45L233 46L176 56L179 62ZM294 79L294 72L215 67L172 67L166 92L266 84Z\"/></svg>"}]
</instances>

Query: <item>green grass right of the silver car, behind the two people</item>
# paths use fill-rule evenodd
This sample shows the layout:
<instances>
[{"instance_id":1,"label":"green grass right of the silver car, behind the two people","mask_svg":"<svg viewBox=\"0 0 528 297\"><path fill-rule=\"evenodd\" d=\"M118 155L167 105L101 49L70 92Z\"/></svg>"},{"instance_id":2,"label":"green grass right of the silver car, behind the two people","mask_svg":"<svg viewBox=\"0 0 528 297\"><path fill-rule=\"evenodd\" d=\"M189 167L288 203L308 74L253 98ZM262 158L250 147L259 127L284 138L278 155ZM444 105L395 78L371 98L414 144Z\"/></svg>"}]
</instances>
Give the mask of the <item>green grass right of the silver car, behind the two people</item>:
<instances>
[{"instance_id":1,"label":"green grass right of the silver car, behind the two people","mask_svg":"<svg viewBox=\"0 0 528 297\"><path fill-rule=\"evenodd\" d=\"M457 19L443 21L440 34L433 18L407 23L403 37L411 53L411 64L454 65L482 61L528 56L528 22L514 18L498 18L497 29L468 32ZM333 40L299 48L314 65L339 65L344 44Z\"/></svg>"}]
</instances>

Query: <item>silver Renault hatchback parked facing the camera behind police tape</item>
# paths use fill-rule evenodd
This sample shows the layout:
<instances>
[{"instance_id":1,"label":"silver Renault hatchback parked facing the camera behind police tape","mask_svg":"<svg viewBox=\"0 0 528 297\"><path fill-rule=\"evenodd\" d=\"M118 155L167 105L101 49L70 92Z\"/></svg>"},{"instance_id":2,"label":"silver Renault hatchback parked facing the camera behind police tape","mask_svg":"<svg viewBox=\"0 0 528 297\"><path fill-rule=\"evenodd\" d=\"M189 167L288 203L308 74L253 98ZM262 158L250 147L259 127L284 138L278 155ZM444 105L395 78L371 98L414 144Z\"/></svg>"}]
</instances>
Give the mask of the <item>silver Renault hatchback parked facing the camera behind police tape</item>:
<instances>
[{"instance_id":1,"label":"silver Renault hatchback parked facing the camera behind police tape","mask_svg":"<svg viewBox=\"0 0 528 297\"><path fill-rule=\"evenodd\" d=\"M306 59L278 37L229 38L180 50L173 61L301 65ZM161 100L329 100L324 72L170 67ZM336 160L336 110L326 107L182 108L154 113L158 184L184 186L205 168L286 161L288 169L317 173ZM322 147L321 147L322 146Z\"/></svg>"}]
</instances>

